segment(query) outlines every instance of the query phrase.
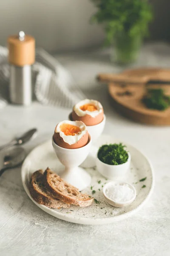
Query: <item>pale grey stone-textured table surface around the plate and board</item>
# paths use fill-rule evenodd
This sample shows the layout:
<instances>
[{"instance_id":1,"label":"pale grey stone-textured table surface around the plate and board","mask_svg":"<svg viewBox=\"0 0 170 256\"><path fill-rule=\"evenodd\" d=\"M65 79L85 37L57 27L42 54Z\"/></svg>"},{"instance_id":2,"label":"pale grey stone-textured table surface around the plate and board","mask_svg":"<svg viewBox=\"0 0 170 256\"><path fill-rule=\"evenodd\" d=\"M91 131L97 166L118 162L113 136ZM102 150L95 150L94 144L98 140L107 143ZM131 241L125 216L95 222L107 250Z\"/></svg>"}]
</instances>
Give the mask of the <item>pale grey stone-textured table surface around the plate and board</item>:
<instances>
[{"instance_id":1,"label":"pale grey stone-textured table surface around the plate and board","mask_svg":"<svg viewBox=\"0 0 170 256\"><path fill-rule=\"evenodd\" d=\"M98 72L118 72L108 52L57 55L88 97L98 99L107 116L104 133L141 149L153 163L155 187L147 204L130 218L102 226L72 224L38 208L23 189L20 168L0 177L0 256L169 256L170 255L170 127L153 127L120 116L111 107L107 88L95 82ZM133 65L134 66L134 65ZM170 47L148 44L136 66L170 67ZM67 109L8 105L0 111L0 144L28 128L38 137L27 143L29 152L51 138L54 127L68 116Z\"/></svg>"}]
</instances>

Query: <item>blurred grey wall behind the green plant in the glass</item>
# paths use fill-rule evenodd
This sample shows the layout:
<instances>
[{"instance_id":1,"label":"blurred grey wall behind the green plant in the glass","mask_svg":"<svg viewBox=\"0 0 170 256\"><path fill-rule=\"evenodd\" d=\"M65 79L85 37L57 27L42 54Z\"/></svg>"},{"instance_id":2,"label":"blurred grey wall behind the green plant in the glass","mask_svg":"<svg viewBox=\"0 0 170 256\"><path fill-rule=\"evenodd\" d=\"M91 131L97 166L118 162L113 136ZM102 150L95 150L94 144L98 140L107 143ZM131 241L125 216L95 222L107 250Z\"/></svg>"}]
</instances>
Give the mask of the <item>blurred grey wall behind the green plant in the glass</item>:
<instances>
[{"instance_id":1,"label":"blurred grey wall behind the green plant in the glass","mask_svg":"<svg viewBox=\"0 0 170 256\"><path fill-rule=\"evenodd\" d=\"M156 20L151 38L170 40L170 0L151 0ZM102 44L101 26L89 24L95 12L89 0L0 0L0 44L20 30L50 52Z\"/></svg>"}]
</instances>

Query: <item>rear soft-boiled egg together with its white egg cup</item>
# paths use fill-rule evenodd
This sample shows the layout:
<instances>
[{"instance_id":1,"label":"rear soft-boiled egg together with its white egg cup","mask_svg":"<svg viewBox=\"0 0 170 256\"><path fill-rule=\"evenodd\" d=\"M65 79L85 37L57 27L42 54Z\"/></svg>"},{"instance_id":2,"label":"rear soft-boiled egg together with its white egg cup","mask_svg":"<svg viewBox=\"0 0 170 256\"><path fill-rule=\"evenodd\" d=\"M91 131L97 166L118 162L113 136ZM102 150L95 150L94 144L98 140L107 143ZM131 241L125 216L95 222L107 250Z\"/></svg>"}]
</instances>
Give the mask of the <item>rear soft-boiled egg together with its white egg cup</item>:
<instances>
[{"instance_id":1,"label":"rear soft-boiled egg together with its white egg cup","mask_svg":"<svg viewBox=\"0 0 170 256\"><path fill-rule=\"evenodd\" d=\"M95 143L103 132L106 117L100 102L94 99L85 99L74 105L73 111L69 114L69 120L84 122L89 134L91 134L93 143ZM81 166L84 168L95 166L97 151L98 148L93 145Z\"/></svg>"}]
</instances>

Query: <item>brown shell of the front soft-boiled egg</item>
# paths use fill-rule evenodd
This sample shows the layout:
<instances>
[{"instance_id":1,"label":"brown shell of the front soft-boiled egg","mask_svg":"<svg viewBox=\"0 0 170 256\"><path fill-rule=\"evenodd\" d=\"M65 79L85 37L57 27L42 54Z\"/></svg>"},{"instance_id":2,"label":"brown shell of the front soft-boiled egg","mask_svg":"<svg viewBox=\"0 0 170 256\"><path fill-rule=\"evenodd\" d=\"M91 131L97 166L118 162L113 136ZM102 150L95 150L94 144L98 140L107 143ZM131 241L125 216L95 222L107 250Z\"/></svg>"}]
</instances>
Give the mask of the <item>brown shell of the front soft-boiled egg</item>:
<instances>
[{"instance_id":1,"label":"brown shell of the front soft-boiled egg","mask_svg":"<svg viewBox=\"0 0 170 256\"><path fill-rule=\"evenodd\" d=\"M81 137L77 143L72 145L66 143L63 138L59 135L59 132L54 132L54 142L61 148L76 149L82 148L88 143L88 131Z\"/></svg>"}]
</instances>

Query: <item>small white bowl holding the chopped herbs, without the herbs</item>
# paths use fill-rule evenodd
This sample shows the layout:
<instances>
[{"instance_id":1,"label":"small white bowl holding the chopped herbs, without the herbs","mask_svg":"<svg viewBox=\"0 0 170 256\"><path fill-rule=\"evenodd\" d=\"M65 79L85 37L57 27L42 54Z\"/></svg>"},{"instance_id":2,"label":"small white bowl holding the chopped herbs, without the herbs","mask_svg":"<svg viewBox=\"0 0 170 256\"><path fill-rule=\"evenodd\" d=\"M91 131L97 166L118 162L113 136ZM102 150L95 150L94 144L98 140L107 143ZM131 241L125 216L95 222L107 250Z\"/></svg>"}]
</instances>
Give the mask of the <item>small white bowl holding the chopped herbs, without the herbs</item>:
<instances>
[{"instance_id":1,"label":"small white bowl holding the chopped herbs, without the herbs","mask_svg":"<svg viewBox=\"0 0 170 256\"><path fill-rule=\"evenodd\" d=\"M107 163L103 163L97 157L96 166L97 166L98 172L108 179L114 179L114 178L124 176L128 171L128 169L130 168L131 157L129 152L127 152L127 154L128 154L127 162L119 165L110 165Z\"/></svg>"}]
</instances>

